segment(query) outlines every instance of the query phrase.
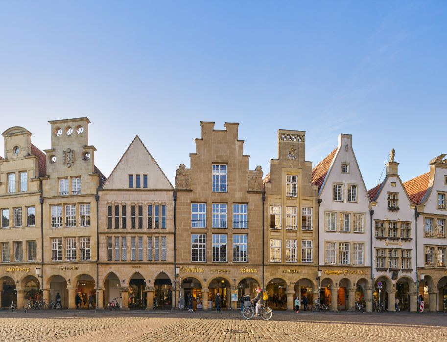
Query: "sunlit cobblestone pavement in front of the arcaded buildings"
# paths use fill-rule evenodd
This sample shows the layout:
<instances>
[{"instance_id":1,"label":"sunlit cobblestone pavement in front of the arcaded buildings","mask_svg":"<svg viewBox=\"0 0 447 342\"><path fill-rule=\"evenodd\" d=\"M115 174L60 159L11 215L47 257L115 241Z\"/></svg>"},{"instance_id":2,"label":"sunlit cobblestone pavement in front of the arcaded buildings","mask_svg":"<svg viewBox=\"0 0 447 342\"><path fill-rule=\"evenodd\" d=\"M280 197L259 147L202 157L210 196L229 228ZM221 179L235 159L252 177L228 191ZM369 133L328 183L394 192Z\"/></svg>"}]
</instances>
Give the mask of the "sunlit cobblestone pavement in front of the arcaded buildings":
<instances>
[{"instance_id":1,"label":"sunlit cobblestone pavement in front of the arcaded buildings","mask_svg":"<svg viewBox=\"0 0 447 342\"><path fill-rule=\"evenodd\" d=\"M0 341L446 341L447 314L0 311Z\"/></svg>"}]
</instances>

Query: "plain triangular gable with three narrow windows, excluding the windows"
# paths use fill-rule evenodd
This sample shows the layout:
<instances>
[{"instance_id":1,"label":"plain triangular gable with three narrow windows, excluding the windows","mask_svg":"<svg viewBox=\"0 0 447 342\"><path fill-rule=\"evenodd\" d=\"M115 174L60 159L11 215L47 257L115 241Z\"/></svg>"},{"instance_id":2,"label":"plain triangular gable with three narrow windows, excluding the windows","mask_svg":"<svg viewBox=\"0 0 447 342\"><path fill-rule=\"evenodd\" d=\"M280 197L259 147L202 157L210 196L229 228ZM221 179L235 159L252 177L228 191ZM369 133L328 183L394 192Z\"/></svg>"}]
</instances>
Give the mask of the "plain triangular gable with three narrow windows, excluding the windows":
<instances>
[{"instance_id":1,"label":"plain triangular gable with three narrow windows, excluding the windows","mask_svg":"<svg viewBox=\"0 0 447 342\"><path fill-rule=\"evenodd\" d=\"M138 135L122 155L115 169L104 183L103 189L129 189L129 174L141 175L141 188L174 190L165 173L144 146ZM143 174L147 174L147 188L143 188Z\"/></svg>"}]
</instances>

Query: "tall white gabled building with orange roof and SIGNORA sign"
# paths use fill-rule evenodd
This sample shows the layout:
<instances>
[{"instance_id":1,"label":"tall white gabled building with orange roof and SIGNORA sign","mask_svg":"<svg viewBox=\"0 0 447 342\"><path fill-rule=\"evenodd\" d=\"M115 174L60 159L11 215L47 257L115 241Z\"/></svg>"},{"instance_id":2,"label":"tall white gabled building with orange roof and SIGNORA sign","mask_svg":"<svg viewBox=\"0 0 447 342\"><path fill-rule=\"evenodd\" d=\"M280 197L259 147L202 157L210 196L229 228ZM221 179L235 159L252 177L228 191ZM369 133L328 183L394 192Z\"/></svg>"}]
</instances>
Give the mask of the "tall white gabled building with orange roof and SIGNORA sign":
<instances>
[{"instance_id":1,"label":"tall white gabled building with orange roof and SIGNORA sign","mask_svg":"<svg viewBox=\"0 0 447 342\"><path fill-rule=\"evenodd\" d=\"M354 309L355 300L371 300L371 224L369 198L351 134L338 136L338 147L312 172L320 198L320 299L332 311Z\"/></svg>"}]
</instances>

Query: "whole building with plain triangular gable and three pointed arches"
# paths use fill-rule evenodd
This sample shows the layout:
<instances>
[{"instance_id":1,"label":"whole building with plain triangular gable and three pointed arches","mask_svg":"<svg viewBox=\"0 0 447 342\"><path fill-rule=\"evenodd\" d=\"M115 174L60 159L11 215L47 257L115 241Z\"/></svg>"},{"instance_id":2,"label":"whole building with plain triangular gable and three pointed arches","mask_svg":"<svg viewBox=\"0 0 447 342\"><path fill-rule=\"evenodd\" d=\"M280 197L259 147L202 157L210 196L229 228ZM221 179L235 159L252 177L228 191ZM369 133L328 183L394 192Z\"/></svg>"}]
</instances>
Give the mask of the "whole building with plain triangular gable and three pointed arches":
<instances>
[{"instance_id":1,"label":"whole building with plain triangular gable and three pointed arches","mask_svg":"<svg viewBox=\"0 0 447 342\"><path fill-rule=\"evenodd\" d=\"M173 194L137 135L99 190L99 308L176 306Z\"/></svg>"}]
</instances>

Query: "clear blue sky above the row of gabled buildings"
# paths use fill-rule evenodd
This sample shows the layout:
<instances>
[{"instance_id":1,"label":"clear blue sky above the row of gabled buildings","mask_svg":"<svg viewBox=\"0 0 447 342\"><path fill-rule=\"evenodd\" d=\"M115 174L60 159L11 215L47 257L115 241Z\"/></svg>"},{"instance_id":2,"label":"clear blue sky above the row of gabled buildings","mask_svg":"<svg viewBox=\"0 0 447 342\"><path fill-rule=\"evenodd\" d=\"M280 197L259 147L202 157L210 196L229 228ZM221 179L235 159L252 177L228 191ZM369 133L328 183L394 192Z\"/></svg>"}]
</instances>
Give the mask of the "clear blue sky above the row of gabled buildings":
<instances>
[{"instance_id":1,"label":"clear blue sky above the row of gabled buildings","mask_svg":"<svg viewBox=\"0 0 447 342\"><path fill-rule=\"evenodd\" d=\"M106 175L138 134L171 182L201 120L240 122L264 174L278 128L306 130L314 165L351 133L368 189L392 148L407 180L447 153L446 18L446 1L1 1L0 130L43 150L47 120L87 116Z\"/></svg>"}]
</instances>

